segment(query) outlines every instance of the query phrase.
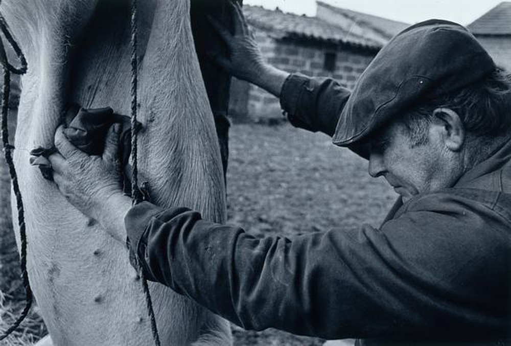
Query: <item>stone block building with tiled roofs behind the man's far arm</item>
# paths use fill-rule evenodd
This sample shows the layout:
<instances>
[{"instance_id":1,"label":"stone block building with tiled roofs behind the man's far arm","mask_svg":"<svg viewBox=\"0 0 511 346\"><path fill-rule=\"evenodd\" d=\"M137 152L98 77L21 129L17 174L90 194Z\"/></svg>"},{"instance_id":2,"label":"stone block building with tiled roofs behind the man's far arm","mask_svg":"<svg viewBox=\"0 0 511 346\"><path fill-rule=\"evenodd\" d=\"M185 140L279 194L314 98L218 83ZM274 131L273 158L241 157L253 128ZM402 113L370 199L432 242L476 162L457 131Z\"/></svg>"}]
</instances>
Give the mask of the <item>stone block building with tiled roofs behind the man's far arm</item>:
<instances>
[{"instance_id":1,"label":"stone block building with tiled roofs behind the man's far arm","mask_svg":"<svg viewBox=\"0 0 511 346\"><path fill-rule=\"evenodd\" d=\"M320 2L317 17L246 5L243 12L269 63L288 72L333 77L349 88L389 38L407 26ZM277 98L238 80L231 88L230 114L241 122L284 120Z\"/></svg>"}]
</instances>

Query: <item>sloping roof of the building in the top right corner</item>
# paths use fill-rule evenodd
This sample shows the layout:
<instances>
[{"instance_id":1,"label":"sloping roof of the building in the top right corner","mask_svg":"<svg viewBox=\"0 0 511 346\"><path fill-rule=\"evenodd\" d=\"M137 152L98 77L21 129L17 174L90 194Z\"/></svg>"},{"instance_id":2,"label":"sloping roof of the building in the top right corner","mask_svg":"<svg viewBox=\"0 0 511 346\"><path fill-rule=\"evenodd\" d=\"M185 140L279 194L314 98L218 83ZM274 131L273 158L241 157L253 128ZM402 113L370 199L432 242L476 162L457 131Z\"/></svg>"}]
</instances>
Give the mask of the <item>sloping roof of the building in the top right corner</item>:
<instances>
[{"instance_id":1,"label":"sloping roof of the building in the top right corner","mask_svg":"<svg viewBox=\"0 0 511 346\"><path fill-rule=\"evenodd\" d=\"M511 2L500 3L467 28L474 35L511 35Z\"/></svg>"}]
</instances>

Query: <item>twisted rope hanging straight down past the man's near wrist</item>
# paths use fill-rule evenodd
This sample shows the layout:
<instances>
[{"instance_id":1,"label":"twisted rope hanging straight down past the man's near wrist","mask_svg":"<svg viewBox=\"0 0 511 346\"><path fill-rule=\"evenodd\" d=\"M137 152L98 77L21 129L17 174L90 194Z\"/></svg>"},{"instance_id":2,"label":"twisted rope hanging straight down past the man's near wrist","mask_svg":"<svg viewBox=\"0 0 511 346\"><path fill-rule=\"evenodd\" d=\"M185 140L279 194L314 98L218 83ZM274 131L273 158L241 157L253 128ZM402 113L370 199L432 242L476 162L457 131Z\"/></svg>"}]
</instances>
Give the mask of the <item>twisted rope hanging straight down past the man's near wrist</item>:
<instances>
[{"instance_id":1,"label":"twisted rope hanging straight down past the man's near wrist","mask_svg":"<svg viewBox=\"0 0 511 346\"><path fill-rule=\"evenodd\" d=\"M138 168L137 168L137 71L138 71L138 56L137 56L137 18L136 18L136 0L132 0L131 3L131 198L133 205L141 201L141 193L138 189ZM137 256L137 255L136 255ZM140 263L140 260L137 261ZM142 281L142 289L146 297L147 310L149 313L149 319L151 321L151 332L153 334L154 343L156 346L160 346L158 329L156 327L156 318L154 317L153 303L151 301L151 294L149 292L149 286L147 279L144 275L142 267L138 266L138 273Z\"/></svg>"}]
</instances>

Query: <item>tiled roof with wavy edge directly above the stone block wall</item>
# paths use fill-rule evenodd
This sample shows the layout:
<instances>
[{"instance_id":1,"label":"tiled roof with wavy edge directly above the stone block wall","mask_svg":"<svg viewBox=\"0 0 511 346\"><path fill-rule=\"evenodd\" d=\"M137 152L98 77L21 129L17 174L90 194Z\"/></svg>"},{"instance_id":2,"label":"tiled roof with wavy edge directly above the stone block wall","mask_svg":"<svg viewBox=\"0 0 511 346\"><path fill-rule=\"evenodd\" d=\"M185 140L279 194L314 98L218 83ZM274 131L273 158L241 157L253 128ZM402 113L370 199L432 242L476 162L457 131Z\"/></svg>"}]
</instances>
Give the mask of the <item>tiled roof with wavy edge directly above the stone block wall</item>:
<instances>
[{"instance_id":1,"label":"tiled roof with wavy edge directly above the stone block wall","mask_svg":"<svg viewBox=\"0 0 511 346\"><path fill-rule=\"evenodd\" d=\"M284 13L281 10L266 10L260 6L243 6L248 23L271 32L277 39L310 39L323 42L343 43L353 47L379 50L382 44L371 38L346 31L315 17Z\"/></svg>"}]
</instances>

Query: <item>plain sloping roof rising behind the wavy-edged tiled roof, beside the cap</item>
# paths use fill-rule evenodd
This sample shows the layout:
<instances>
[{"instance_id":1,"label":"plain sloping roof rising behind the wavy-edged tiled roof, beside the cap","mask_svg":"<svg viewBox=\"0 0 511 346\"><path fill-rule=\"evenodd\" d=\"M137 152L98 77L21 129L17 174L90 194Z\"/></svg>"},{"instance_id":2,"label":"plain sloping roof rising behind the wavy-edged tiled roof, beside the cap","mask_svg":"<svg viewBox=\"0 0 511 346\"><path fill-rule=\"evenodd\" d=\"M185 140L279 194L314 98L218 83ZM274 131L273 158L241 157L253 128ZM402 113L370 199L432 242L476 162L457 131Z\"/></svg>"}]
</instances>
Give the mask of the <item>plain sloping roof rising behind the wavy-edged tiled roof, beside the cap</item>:
<instances>
[{"instance_id":1,"label":"plain sloping roof rising behind the wavy-edged tiled roof, beside the cap","mask_svg":"<svg viewBox=\"0 0 511 346\"><path fill-rule=\"evenodd\" d=\"M316 1L316 3L318 5L318 8L319 7L326 8L332 12L335 12L346 18L351 19L356 25L365 26L370 29L373 29L387 40L409 26L409 24L402 21L391 20L367 13L352 11L332 6L321 1Z\"/></svg>"}]
</instances>

